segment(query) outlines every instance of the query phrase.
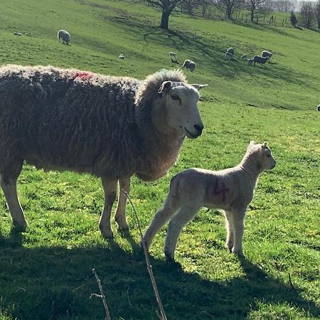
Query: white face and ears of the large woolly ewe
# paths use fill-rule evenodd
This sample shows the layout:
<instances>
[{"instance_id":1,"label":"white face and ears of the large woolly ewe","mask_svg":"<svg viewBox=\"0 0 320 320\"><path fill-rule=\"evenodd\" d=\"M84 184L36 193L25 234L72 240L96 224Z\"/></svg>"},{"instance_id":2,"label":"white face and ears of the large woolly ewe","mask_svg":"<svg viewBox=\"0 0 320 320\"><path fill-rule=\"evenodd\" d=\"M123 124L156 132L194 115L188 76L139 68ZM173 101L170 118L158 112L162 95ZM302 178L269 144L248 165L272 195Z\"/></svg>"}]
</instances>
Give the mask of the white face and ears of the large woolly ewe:
<instances>
[{"instance_id":1,"label":"white face and ears of the large woolly ewe","mask_svg":"<svg viewBox=\"0 0 320 320\"><path fill-rule=\"evenodd\" d=\"M203 122L198 110L200 90L206 85L164 81L158 91L158 105L166 108L166 122L190 139L201 136Z\"/></svg>"}]
</instances>

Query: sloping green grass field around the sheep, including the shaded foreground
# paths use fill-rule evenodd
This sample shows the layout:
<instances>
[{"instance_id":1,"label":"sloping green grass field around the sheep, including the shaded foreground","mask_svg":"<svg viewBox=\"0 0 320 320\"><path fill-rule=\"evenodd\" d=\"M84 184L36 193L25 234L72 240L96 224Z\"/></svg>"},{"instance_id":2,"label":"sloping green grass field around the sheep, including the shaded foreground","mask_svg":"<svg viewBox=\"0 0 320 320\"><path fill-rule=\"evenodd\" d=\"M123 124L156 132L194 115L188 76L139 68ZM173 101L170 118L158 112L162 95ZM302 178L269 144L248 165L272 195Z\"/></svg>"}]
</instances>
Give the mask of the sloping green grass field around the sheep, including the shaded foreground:
<instances>
[{"instance_id":1,"label":"sloping green grass field around the sheep, including the shaded foreground","mask_svg":"<svg viewBox=\"0 0 320 320\"><path fill-rule=\"evenodd\" d=\"M286 25L205 21L160 14L124 1L1 1L0 64L55 65L144 78L171 65L168 52L198 67L189 82L208 83L199 109L203 135L183 144L168 176L132 181L145 229L171 176L197 166L238 164L251 139L267 140L277 167L262 174L247 211L245 258L224 248L223 215L201 210L181 234L179 264L165 262L166 230L151 246L151 264L168 319L320 319L320 34ZM65 28L71 45L58 43ZM23 36L14 36L20 31ZM272 50L264 68L224 60ZM119 60L125 53L126 60ZM1 137L0 137L1 139ZM11 229L0 196L0 319L103 319L91 270L100 276L112 319L158 319L130 206L129 235L98 230L100 181L24 166L18 182L29 228Z\"/></svg>"}]
</instances>

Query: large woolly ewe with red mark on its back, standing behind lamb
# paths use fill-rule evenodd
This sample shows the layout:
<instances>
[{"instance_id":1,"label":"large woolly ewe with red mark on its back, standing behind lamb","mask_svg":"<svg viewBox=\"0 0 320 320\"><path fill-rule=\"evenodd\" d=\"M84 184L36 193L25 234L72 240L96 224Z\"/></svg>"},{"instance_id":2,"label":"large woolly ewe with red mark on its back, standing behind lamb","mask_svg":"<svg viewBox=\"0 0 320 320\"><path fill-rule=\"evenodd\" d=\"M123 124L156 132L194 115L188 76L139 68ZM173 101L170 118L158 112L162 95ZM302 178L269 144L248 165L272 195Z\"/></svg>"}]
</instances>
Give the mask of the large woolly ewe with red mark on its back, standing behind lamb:
<instances>
[{"instance_id":1,"label":"large woolly ewe with red mark on its back, standing behind lamb","mask_svg":"<svg viewBox=\"0 0 320 320\"><path fill-rule=\"evenodd\" d=\"M14 225L26 228L16 181L23 160L36 168L87 172L102 179L105 205L100 230L113 236L112 205L130 177L164 176L183 139L201 135L198 90L179 70L161 70L144 81L72 69L0 68L0 177ZM126 197L114 216L127 229Z\"/></svg>"}]
</instances>

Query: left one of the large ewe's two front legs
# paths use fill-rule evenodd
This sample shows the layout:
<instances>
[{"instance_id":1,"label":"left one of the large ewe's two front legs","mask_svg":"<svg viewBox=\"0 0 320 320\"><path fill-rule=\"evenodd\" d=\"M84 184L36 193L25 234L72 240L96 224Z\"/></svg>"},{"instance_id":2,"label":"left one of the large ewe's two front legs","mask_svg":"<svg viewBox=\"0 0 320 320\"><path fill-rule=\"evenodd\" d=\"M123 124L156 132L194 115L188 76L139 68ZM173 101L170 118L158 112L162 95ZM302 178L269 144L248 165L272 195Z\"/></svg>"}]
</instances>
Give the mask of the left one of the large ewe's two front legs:
<instances>
[{"instance_id":1,"label":"left one of the large ewe's two front legs","mask_svg":"<svg viewBox=\"0 0 320 320\"><path fill-rule=\"evenodd\" d=\"M111 210L117 194L117 180L107 181L102 178L102 187L105 191L105 206L100 217L99 228L104 238L112 238L113 233L110 225Z\"/></svg>"}]
</instances>

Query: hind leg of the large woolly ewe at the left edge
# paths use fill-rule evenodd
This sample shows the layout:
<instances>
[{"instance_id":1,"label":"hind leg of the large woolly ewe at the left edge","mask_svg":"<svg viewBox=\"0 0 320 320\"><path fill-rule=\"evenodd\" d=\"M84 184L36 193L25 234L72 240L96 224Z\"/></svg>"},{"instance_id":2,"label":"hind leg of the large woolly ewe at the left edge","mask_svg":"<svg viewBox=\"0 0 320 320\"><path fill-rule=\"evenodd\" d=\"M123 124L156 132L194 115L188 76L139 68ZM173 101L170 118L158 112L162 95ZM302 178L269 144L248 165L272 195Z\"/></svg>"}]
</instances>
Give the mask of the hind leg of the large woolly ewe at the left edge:
<instances>
[{"instance_id":1,"label":"hind leg of the large woolly ewe at the left edge","mask_svg":"<svg viewBox=\"0 0 320 320\"><path fill-rule=\"evenodd\" d=\"M28 224L24 217L16 191L16 182L18 175L21 172L21 168L22 163L16 164L16 166L11 165L10 171L1 172L1 188L4 191L6 204L9 208L14 227L23 231L26 230Z\"/></svg>"}]
</instances>

